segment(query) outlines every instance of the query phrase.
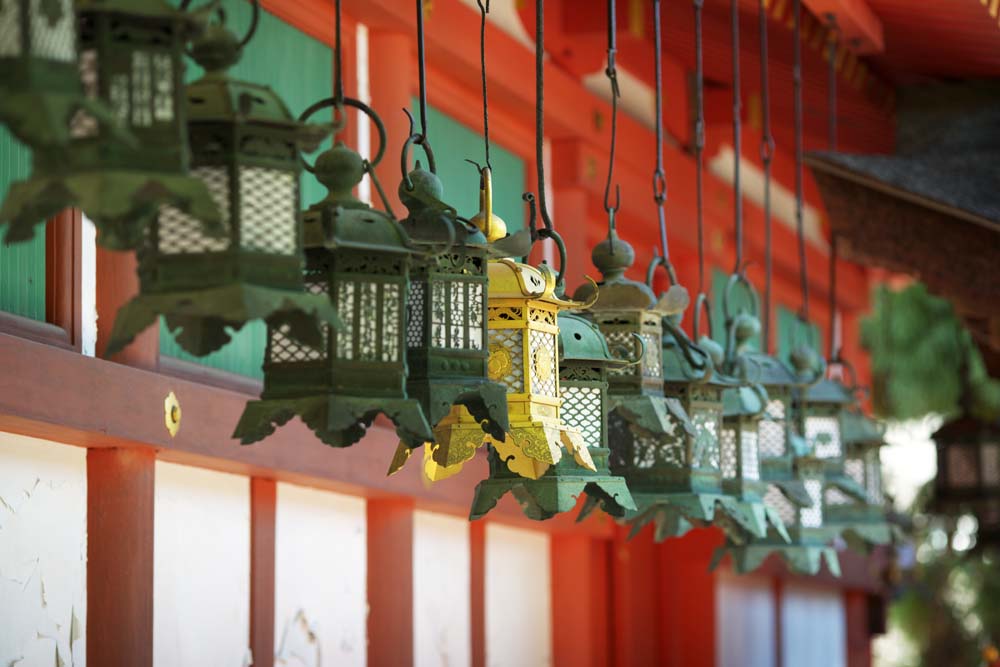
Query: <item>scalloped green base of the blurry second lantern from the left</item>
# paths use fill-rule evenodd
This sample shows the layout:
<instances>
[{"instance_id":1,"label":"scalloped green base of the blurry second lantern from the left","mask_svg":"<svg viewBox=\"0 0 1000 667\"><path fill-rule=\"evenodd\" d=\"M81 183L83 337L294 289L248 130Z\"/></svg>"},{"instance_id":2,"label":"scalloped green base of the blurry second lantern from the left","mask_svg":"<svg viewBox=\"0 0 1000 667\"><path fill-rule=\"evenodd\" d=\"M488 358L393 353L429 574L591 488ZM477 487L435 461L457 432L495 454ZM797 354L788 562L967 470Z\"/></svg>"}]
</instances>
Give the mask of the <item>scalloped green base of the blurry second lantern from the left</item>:
<instances>
[{"instance_id":1,"label":"scalloped green base of the blurry second lantern from the left","mask_svg":"<svg viewBox=\"0 0 1000 667\"><path fill-rule=\"evenodd\" d=\"M142 246L149 223L164 204L200 220L209 236L228 234L208 188L192 176L96 169L44 176L35 171L30 179L11 184L0 209L0 224L7 223L6 243L33 238L35 227L69 207L83 209L97 227L97 242L110 250Z\"/></svg>"}]
</instances>

